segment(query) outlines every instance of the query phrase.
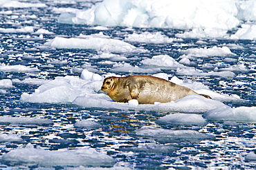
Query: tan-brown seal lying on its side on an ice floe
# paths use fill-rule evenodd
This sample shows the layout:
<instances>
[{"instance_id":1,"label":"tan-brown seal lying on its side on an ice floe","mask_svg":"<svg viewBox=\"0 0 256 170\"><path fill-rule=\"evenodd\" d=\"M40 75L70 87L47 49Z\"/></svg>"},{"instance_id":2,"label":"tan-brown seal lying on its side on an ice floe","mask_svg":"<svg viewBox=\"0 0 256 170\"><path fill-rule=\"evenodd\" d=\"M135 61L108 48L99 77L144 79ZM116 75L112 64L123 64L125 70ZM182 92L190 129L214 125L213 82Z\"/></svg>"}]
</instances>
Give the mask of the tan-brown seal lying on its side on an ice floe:
<instances>
[{"instance_id":1,"label":"tan-brown seal lying on its side on an ice floe","mask_svg":"<svg viewBox=\"0 0 256 170\"><path fill-rule=\"evenodd\" d=\"M176 85L163 78L143 75L109 76L104 79L101 90L116 102L127 103L131 99L137 99L139 104L167 103L197 94L188 87ZM198 95L210 98L205 94Z\"/></svg>"}]
</instances>

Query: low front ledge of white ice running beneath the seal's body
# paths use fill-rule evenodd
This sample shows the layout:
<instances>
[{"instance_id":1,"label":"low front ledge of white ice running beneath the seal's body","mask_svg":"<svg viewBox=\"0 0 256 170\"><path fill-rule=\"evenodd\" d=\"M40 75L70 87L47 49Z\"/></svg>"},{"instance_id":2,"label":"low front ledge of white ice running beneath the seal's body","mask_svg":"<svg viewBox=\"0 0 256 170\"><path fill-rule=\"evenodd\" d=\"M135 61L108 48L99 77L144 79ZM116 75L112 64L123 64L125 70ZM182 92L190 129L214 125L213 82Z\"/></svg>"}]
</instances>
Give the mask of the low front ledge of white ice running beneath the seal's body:
<instances>
[{"instance_id":1,"label":"low front ledge of white ice running beneath the seal's body","mask_svg":"<svg viewBox=\"0 0 256 170\"><path fill-rule=\"evenodd\" d=\"M103 96L101 96L103 97ZM170 103L156 103L155 105L129 105L128 103L116 103L111 98L92 98L88 96L79 96L73 101L74 104L83 107L98 107L107 109L134 109L136 111L180 111L184 113L202 114L203 112L225 106L217 100L210 100L199 95L185 96L179 100Z\"/></svg>"}]
</instances>

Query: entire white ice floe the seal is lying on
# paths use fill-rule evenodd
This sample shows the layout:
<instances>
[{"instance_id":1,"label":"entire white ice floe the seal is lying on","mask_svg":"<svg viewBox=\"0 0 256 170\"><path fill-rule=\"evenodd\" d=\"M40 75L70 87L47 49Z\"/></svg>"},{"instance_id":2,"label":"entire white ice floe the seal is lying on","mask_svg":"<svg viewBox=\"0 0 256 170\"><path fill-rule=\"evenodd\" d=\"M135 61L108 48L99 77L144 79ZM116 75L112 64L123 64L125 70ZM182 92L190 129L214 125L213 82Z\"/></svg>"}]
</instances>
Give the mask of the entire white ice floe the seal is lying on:
<instances>
[{"instance_id":1,"label":"entire white ice floe the seal is lying on","mask_svg":"<svg viewBox=\"0 0 256 170\"><path fill-rule=\"evenodd\" d=\"M167 79L167 74L155 75ZM77 76L57 77L55 80L39 86L32 94L21 94L21 101L30 103L73 103L82 107L100 107L107 109L182 111L189 113L203 113L209 109L225 106L218 100L210 100L199 95L190 95L174 102L155 103L155 105L137 105L136 102L116 103L113 102L107 94L100 92L102 81L103 77L99 74L83 70L81 78ZM176 78L176 80L172 79L172 81L188 87L194 86L192 89L196 90L205 89L205 92L201 92L201 94L214 94L214 92L211 92L201 83L183 83L179 78ZM212 96L212 98L214 97L215 96ZM226 96L223 96L222 99L230 100L230 98Z\"/></svg>"}]
</instances>

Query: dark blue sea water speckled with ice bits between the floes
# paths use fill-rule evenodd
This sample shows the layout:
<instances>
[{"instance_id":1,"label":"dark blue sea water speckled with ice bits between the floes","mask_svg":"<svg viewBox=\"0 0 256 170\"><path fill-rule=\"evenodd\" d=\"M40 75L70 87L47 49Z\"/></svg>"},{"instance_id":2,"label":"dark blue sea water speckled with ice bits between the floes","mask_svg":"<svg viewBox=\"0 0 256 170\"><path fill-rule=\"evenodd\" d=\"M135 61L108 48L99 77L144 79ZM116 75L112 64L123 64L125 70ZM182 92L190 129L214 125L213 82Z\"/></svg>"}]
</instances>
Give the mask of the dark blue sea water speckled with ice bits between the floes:
<instances>
[{"instance_id":1,"label":"dark blue sea water speckled with ice bits between the floes","mask_svg":"<svg viewBox=\"0 0 256 170\"><path fill-rule=\"evenodd\" d=\"M11 10L12 14L0 14L1 28L19 28L33 26L35 30L44 28L54 34L39 35L30 32L5 33L0 32L0 63L6 65L26 65L37 67L39 72L0 72L0 79L38 78L53 80L57 76L80 76L74 68L81 68L84 63L90 63L102 75L109 72L109 65L100 65L103 59L90 59L96 50L79 49L42 49L47 39L54 39L57 35L66 38L80 34L97 34L103 32L111 38L123 40L125 34L132 32L161 32L174 38L174 34L184 30L161 28L125 28L113 27L109 30L90 30L89 25L71 25L57 22L60 14L54 14L51 8L85 8L88 4L77 2L73 4L44 2L48 8L0 8L0 11ZM84 5L85 4L85 5ZM36 18L29 17L35 15ZM162 70L171 76L178 76L183 80L201 82L221 94L236 94L244 99L240 103L225 103L231 107L255 106L256 94L256 42L247 40L204 39L207 45L196 43L199 39L183 39L181 42L167 44L132 43L136 47L149 50L147 54L124 54L125 61L131 65L140 66L142 59L151 58L157 54L167 54L174 59L181 56L181 50L195 47L222 47L227 44L239 45L239 48L230 48L236 56L234 62L223 61L223 56L194 59L194 67L207 72L202 65L206 63L213 67L225 68L230 65L244 64L248 71L237 71L233 78L217 76L178 76L173 70ZM71 55L72 54L72 55ZM253 55L255 54L255 55ZM46 67L48 61L58 59L68 61L57 63L54 67ZM119 75L140 73L116 72ZM145 73L143 73L145 74ZM254 169L256 162L245 160L248 153L256 153L255 123L225 122L207 120L207 125L156 125L156 120L167 112L156 111L120 111L116 109L83 108L71 104L50 103L21 103L21 94L35 92L39 85L15 83L13 88L6 89L7 94L0 94L0 116L47 118L53 120L53 125L13 125L1 124L0 134L16 134L23 138L23 142L1 142L0 155L3 156L12 149L22 148L28 143L40 146L43 149L55 151L58 149L80 149L91 147L97 151L107 153L114 158L120 167L131 169ZM239 82L239 83L237 83ZM80 129L73 125L79 120L94 118L103 127L99 129ZM203 134L214 136L210 139L192 140L179 138L147 138L134 134L136 129L143 126L158 126L163 129L193 129ZM62 139L48 139L46 136L54 134ZM30 165L19 162L1 162L2 169L48 169L40 164ZM71 167L69 167L71 168ZM49 168L50 169L50 168ZM66 169L66 167L51 167L51 169Z\"/></svg>"}]
</instances>

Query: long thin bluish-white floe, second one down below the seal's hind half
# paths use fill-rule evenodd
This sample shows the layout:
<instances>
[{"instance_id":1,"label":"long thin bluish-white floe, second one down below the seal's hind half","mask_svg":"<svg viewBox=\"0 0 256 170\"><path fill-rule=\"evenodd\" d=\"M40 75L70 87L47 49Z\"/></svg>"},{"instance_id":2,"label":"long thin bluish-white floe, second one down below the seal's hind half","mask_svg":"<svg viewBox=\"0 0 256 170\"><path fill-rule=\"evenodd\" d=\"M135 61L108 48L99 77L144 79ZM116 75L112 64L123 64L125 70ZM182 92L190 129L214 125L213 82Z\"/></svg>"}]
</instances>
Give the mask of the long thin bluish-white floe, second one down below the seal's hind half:
<instances>
[{"instance_id":1,"label":"long thin bluish-white floe, second one down below the seal's hind half","mask_svg":"<svg viewBox=\"0 0 256 170\"><path fill-rule=\"evenodd\" d=\"M141 127L135 132L137 136L152 138L212 138L212 136L194 130L170 130L152 126Z\"/></svg>"}]
</instances>

